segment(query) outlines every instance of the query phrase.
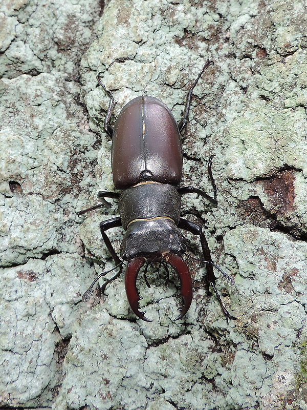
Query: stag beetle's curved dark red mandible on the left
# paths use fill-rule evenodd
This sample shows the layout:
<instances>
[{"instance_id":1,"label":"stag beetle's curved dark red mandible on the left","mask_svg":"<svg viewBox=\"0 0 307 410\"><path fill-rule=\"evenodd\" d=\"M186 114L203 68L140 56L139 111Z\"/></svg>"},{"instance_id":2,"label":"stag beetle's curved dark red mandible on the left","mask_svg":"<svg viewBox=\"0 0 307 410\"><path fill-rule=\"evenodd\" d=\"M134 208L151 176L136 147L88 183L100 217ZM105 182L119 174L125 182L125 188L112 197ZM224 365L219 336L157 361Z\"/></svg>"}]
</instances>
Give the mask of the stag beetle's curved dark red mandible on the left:
<instances>
[{"instance_id":1,"label":"stag beetle's curved dark red mandible on the left","mask_svg":"<svg viewBox=\"0 0 307 410\"><path fill-rule=\"evenodd\" d=\"M142 298L137 290L137 277L145 262L146 259L143 257L137 257L129 260L125 274L125 288L127 299L133 312L140 319L145 320L146 322L151 322L151 320L147 319L147 317L139 311L139 300Z\"/></svg>"}]
</instances>

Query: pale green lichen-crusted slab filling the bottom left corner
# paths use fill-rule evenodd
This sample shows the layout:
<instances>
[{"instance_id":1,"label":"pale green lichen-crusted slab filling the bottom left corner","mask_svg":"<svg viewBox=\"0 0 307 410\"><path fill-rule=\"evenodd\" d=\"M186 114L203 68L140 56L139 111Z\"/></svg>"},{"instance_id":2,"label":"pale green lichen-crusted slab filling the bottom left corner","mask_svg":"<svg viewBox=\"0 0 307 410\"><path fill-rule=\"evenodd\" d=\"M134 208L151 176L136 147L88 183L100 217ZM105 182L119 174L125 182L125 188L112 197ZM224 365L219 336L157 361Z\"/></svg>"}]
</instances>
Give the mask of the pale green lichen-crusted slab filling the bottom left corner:
<instances>
[{"instance_id":1,"label":"pale green lichen-crusted slab filling the bottom left corner","mask_svg":"<svg viewBox=\"0 0 307 410\"><path fill-rule=\"evenodd\" d=\"M30 259L24 265L2 269L2 405L35 407L52 402L72 323L84 311L80 301L84 275L91 276L92 270L77 254L74 259L65 255L46 261Z\"/></svg>"}]
</instances>

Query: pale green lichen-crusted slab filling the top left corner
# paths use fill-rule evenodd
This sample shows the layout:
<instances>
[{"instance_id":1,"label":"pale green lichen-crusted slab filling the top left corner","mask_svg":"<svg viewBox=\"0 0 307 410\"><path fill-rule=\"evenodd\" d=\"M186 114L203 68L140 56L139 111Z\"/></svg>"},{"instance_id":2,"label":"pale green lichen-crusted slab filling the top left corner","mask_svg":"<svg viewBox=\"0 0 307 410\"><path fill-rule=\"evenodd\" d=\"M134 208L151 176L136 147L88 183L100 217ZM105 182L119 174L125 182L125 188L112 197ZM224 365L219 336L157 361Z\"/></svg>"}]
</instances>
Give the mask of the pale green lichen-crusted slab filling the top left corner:
<instances>
[{"instance_id":1,"label":"pale green lichen-crusted slab filling the top left corner","mask_svg":"<svg viewBox=\"0 0 307 410\"><path fill-rule=\"evenodd\" d=\"M0 9L0 75L60 71L78 78L79 63L96 37L97 0L4 0Z\"/></svg>"}]
</instances>

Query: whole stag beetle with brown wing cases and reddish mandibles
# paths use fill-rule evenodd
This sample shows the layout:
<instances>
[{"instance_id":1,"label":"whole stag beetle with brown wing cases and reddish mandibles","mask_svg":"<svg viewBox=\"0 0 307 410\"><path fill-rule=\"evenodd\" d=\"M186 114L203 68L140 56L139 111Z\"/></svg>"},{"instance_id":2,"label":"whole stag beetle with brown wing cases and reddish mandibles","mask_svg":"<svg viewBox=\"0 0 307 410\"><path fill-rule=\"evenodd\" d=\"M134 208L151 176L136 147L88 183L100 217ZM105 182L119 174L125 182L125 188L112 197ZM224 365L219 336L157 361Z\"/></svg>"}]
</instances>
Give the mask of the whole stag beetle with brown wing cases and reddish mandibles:
<instances>
[{"instance_id":1,"label":"whole stag beetle with brown wing cases and reddish mandibles","mask_svg":"<svg viewBox=\"0 0 307 410\"><path fill-rule=\"evenodd\" d=\"M212 157L208 162L208 172L212 183L214 198L205 192L194 188L178 188L181 181L183 154L180 134L187 125L192 92L205 69L211 64L207 61L198 77L190 87L184 115L177 124L171 111L157 98L141 96L129 101L121 110L114 128L111 127L111 116L115 100L101 82L101 73L97 81L109 97L109 107L104 120L104 130L112 138L112 173L115 188L121 193L100 191L98 198L101 204L78 212L81 215L101 206L111 206L105 198L118 199L120 217L105 220L100 223L100 231L104 243L114 259L119 272L107 280L105 286L117 278L122 272L122 264L127 261L125 273L125 288L128 302L133 312L142 320L150 321L139 311L139 300L136 281L140 269L147 261L170 264L179 274L181 281L181 296L184 306L181 319L187 313L192 301L192 280L186 262L182 258L186 245L181 229L198 235L201 240L203 255L207 268L207 281L211 283L218 302L227 318L235 319L225 309L220 295L215 288L213 266L219 269L211 259L210 250L202 228L197 224L180 217L181 195L196 193L213 204L217 204L216 187L211 172ZM122 227L124 234L120 256L116 254L106 231ZM186 254L187 255L187 254ZM167 270L167 268L166 268ZM221 271L221 269L219 269ZM108 271L110 272L110 271ZM106 273L100 276L104 276ZM234 283L234 280L223 273L223 279ZM145 275L144 275L145 276ZM89 299L93 293L92 283L83 295L83 300ZM147 279L145 276L147 283ZM147 283L148 284L148 283Z\"/></svg>"}]
</instances>

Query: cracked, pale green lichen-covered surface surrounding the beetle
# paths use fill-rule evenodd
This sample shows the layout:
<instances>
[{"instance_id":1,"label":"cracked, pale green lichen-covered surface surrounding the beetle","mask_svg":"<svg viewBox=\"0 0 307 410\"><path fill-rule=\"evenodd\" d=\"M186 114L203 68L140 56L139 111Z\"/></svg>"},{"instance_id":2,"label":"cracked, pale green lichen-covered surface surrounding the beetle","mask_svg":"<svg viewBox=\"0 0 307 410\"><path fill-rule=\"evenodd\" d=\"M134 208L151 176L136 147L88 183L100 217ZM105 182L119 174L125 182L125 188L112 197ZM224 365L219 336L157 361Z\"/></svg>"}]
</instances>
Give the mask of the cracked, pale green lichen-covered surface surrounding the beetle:
<instances>
[{"instance_id":1,"label":"cracked, pale green lichen-covered surface surrounding the beetle","mask_svg":"<svg viewBox=\"0 0 307 410\"><path fill-rule=\"evenodd\" d=\"M306 19L290 0L2 2L0 406L307 408ZM123 277L83 303L114 267L99 222L116 204L76 215L114 190L97 73L115 115L145 94L180 119L207 59L181 186L212 195L214 154L218 205L185 195L182 215L201 224L214 262L235 278L217 285L237 320L226 321L192 260L181 321L178 278L165 286L156 267L150 289L138 281L150 323L131 313ZM122 230L109 232L118 251ZM198 238L185 235L201 257Z\"/></svg>"}]
</instances>

